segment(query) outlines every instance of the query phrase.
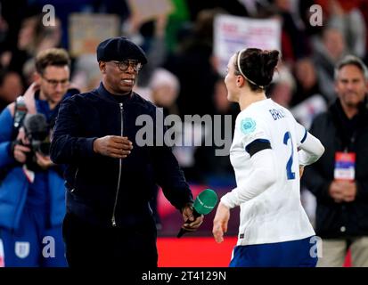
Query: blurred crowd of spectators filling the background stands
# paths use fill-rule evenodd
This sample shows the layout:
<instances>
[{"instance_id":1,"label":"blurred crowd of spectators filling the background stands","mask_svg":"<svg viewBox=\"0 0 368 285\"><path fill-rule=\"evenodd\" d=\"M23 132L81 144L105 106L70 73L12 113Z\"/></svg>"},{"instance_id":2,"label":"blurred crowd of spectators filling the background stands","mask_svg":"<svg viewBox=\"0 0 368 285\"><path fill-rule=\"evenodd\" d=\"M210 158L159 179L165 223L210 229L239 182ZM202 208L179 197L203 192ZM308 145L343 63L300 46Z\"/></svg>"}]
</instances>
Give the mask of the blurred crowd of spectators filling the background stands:
<instances>
[{"instance_id":1,"label":"blurred crowd of spectators filling the background stands","mask_svg":"<svg viewBox=\"0 0 368 285\"><path fill-rule=\"evenodd\" d=\"M55 8L54 26L43 25L45 4ZM141 45L149 58L135 91L166 115L182 118L231 115L234 123L239 112L226 100L224 78L217 73L213 55L213 22L219 14L282 20L282 65L267 94L307 128L336 98L336 62L348 53L367 62L368 1L172 0L172 4L174 12L143 22L130 11L127 0L0 0L0 110L33 81L38 52L70 48L72 12L118 14L120 35ZM310 24L313 4L323 8L323 26ZM72 58L71 82L82 92L99 85L94 54ZM192 183L234 183L228 157L215 157L215 147L182 147L175 153Z\"/></svg>"}]
</instances>

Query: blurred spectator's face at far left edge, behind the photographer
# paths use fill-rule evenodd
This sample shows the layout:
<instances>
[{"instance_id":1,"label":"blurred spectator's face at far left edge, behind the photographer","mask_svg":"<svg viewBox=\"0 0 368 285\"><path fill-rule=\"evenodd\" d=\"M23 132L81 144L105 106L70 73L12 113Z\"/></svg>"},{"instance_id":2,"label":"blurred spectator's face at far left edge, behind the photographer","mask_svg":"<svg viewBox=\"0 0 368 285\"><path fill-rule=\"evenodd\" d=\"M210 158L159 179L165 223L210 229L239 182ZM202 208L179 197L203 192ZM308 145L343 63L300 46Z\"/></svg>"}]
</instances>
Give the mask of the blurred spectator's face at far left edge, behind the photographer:
<instances>
[{"instance_id":1,"label":"blurred spectator's face at far left edge, behind the photographer","mask_svg":"<svg viewBox=\"0 0 368 285\"><path fill-rule=\"evenodd\" d=\"M22 92L23 85L20 75L13 71L0 70L0 113Z\"/></svg>"}]
</instances>

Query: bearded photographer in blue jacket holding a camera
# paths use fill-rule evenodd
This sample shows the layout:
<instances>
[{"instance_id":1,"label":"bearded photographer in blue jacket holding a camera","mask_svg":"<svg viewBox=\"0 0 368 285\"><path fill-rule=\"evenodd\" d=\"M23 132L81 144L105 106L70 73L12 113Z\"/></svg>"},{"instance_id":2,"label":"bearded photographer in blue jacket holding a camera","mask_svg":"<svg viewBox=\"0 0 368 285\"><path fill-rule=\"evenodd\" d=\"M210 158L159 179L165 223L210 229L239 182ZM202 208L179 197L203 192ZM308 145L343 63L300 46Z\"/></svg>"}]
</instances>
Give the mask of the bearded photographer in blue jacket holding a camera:
<instances>
[{"instance_id":1,"label":"bearded photographer in blue jacket holding a camera","mask_svg":"<svg viewBox=\"0 0 368 285\"><path fill-rule=\"evenodd\" d=\"M70 88L63 49L37 54L35 83L0 114L0 246L5 266L66 266L62 167L49 156L50 132Z\"/></svg>"}]
</instances>

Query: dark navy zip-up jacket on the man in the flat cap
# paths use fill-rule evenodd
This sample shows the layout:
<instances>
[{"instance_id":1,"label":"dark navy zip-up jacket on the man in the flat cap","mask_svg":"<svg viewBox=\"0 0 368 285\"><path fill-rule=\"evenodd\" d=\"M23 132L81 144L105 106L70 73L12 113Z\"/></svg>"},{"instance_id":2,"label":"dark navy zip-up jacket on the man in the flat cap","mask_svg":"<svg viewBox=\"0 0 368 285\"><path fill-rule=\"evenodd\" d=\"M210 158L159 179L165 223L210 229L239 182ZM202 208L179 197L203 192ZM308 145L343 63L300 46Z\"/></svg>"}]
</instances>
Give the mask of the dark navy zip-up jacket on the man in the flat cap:
<instances>
[{"instance_id":1,"label":"dark navy zip-up jacket on the man in the flat cap","mask_svg":"<svg viewBox=\"0 0 368 285\"><path fill-rule=\"evenodd\" d=\"M135 134L143 126L136 126L135 120L143 114L156 126L156 107L151 102L132 92L120 104L102 84L62 102L51 159L67 165L68 212L102 226L140 224L151 219L149 200L156 184L176 208L192 202L192 192L171 150L136 144ZM121 133L133 142L126 159L94 153L96 138Z\"/></svg>"}]
</instances>

